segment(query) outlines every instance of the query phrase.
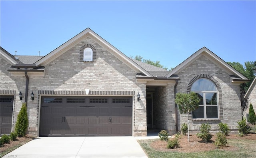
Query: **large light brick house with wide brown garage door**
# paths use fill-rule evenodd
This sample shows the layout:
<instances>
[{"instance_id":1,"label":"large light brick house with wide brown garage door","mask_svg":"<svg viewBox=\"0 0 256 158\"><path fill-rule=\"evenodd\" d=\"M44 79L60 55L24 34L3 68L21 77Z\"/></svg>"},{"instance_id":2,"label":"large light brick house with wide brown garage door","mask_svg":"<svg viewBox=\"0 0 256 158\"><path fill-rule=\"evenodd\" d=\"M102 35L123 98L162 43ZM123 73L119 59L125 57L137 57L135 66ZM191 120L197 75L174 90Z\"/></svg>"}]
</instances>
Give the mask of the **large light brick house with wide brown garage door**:
<instances>
[{"instance_id":1,"label":"large light brick house with wide brown garage door","mask_svg":"<svg viewBox=\"0 0 256 158\"><path fill-rule=\"evenodd\" d=\"M192 131L223 122L237 132L242 118L239 84L248 79L206 47L172 71L130 59L90 28L44 57L0 53L1 134L14 130L24 102L36 136L175 134L187 121L175 95L190 91L201 97Z\"/></svg>"}]
</instances>

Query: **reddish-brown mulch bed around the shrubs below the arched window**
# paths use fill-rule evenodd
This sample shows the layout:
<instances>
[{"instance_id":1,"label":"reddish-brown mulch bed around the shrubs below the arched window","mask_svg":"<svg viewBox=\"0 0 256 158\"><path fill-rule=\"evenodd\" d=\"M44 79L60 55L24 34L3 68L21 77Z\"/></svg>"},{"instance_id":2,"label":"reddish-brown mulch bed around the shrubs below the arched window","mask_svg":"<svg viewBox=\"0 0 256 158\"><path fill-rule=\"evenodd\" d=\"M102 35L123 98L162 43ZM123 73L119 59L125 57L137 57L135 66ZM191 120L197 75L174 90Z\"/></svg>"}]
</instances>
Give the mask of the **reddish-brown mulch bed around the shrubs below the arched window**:
<instances>
[{"instance_id":1,"label":"reddish-brown mulch bed around the shrubs below the arched window","mask_svg":"<svg viewBox=\"0 0 256 158\"><path fill-rule=\"evenodd\" d=\"M209 150L216 149L216 146L214 145L214 141L216 139L216 136L212 136L212 141L208 143L204 143L201 141L200 138L197 138L196 135L190 135L190 141L188 142L188 136L181 136L179 139L180 147L175 149L168 149L167 148L167 142L157 140L155 142L152 142L150 146L158 151L177 151L177 152L204 152ZM246 136L240 137L237 134L230 134L227 136L227 139L248 139L248 140L256 140L256 134L246 134ZM238 150L235 146L230 146L230 144L227 144L226 147L224 147L222 150L228 150L228 151L234 151Z\"/></svg>"}]
</instances>

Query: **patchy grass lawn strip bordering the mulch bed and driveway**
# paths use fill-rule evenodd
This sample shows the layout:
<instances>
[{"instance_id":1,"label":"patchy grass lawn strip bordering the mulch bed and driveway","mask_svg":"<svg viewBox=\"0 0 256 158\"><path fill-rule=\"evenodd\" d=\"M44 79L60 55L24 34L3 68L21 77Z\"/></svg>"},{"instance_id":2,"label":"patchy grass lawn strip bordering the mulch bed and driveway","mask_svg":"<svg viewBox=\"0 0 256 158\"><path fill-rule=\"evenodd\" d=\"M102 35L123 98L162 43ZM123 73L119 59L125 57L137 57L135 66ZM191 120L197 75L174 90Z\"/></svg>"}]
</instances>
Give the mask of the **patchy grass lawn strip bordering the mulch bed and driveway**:
<instances>
[{"instance_id":1,"label":"patchy grass lawn strip bordering the mulch bed and driveway","mask_svg":"<svg viewBox=\"0 0 256 158\"><path fill-rule=\"evenodd\" d=\"M138 140L140 146L147 154L148 158L255 158L256 157L256 140L230 139L228 145L235 146L238 150L227 151L215 149L206 152L168 152L156 151L150 147L153 140Z\"/></svg>"}]
</instances>

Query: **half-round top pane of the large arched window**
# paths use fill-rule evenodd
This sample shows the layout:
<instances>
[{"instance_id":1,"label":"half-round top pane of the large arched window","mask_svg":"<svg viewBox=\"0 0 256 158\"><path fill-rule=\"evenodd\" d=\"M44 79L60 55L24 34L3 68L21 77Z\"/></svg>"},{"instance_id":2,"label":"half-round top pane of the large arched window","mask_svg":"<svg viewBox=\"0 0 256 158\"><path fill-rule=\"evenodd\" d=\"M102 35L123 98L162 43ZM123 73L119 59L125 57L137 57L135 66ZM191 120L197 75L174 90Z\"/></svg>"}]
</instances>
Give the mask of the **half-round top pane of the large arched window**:
<instances>
[{"instance_id":1,"label":"half-round top pane of the large arched window","mask_svg":"<svg viewBox=\"0 0 256 158\"><path fill-rule=\"evenodd\" d=\"M192 86L191 91L217 91L215 84L208 79L198 79Z\"/></svg>"}]
</instances>

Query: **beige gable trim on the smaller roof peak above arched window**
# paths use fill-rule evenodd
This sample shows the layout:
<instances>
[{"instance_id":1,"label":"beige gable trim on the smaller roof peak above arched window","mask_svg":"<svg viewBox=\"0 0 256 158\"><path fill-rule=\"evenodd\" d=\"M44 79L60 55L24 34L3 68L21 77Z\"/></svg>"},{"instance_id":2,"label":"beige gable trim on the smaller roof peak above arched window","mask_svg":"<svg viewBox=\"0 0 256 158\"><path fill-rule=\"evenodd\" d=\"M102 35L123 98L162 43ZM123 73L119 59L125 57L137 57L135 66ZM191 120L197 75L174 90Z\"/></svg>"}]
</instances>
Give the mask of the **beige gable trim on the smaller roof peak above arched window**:
<instances>
[{"instance_id":1,"label":"beige gable trim on the smaller roof peak above arched window","mask_svg":"<svg viewBox=\"0 0 256 158\"><path fill-rule=\"evenodd\" d=\"M220 57L218 57L216 54L214 54L212 51L207 49L206 47L202 47L198 51L196 51L194 54L192 54L190 57L188 57L186 60L184 60L182 63L180 63L178 66L176 66L170 73L168 73L166 76L170 77L171 75L179 73L182 69L187 67L190 63L198 59L201 55L205 55L206 57L211 58L211 61L215 63L216 65L219 65L223 67L225 71L228 73L232 73L230 75L235 75L237 78L240 78L242 80L248 80L244 75L239 73L236 69L234 69L232 66L230 66L228 63L226 63L224 60L222 60Z\"/></svg>"}]
</instances>

